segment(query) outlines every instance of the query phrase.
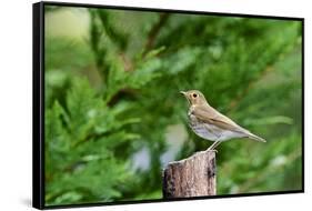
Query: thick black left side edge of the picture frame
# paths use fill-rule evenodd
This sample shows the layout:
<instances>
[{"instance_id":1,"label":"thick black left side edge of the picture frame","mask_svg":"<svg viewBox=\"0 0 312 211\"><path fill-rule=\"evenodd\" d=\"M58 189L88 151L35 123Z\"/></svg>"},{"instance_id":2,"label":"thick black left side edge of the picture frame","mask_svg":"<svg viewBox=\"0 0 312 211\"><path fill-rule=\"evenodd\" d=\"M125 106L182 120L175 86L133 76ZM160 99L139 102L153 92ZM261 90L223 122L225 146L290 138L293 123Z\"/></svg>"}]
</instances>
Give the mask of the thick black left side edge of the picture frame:
<instances>
[{"instance_id":1,"label":"thick black left side edge of the picture frame","mask_svg":"<svg viewBox=\"0 0 312 211\"><path fill-rule=\"evenodd\" d=\"M44 208L41 115L43 3L32 4L32 207Z\"/></svg>"}]
</instances>

